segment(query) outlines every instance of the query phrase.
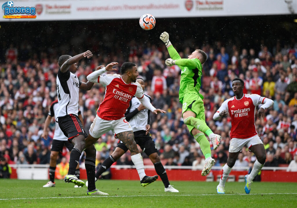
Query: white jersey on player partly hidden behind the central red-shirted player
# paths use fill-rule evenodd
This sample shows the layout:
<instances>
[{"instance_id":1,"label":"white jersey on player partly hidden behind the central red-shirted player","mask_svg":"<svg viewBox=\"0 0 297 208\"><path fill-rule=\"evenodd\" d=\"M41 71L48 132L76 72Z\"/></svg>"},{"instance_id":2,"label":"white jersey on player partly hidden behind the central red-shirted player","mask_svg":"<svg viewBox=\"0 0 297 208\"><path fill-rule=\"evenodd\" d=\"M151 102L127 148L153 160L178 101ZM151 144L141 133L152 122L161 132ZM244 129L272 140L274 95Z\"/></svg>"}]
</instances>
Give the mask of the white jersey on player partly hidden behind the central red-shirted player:
<instances>
[{"instance_id":1,"label":"white jersey on player partly hidden behind the central red-shirted player","mask_svg":"<svg viewBox=\"0 0 297 208\"><path fill-rule=\"evenodd\" d=\"M151 97L144 94L150 102ZM149 109L143 109L141 111L136 110L140 105L140 101L133 97L130 101L130 107L127 109L127 112L125 113L126 120L129 122L130 126L132 127L133 132L139 131L139 130L146 130L146 125L150 124L151 118L150 118L150 110ZM135 114L133 113L135 112Z\"/></svg>"}]
</instances>

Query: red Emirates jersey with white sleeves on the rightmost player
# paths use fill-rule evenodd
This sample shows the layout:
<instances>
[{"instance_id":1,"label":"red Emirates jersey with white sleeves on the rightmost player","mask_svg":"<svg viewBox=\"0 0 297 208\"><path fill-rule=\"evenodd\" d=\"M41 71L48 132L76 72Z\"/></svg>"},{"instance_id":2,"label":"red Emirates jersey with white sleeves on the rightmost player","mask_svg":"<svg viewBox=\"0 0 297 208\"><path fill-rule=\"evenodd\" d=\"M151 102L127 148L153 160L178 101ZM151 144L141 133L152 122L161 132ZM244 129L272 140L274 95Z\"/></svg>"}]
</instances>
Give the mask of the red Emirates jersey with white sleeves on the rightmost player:
<instances>
[{"instance_id":1,"label":"red Emirates jersey with white sleeves on the rightmost player","mask_svg":"<svg viewBox=\"0 0 297 208\"><path fill-rule=\"evenodd\" d=\"M218 109L218 113L226 110L231 117L230 139L247 139L257 135L255 126L255 109L259 104L263 104L265 97L256 94L244 94L237 100L234 97L225 100Z\"/></svg>"}]
</instances>

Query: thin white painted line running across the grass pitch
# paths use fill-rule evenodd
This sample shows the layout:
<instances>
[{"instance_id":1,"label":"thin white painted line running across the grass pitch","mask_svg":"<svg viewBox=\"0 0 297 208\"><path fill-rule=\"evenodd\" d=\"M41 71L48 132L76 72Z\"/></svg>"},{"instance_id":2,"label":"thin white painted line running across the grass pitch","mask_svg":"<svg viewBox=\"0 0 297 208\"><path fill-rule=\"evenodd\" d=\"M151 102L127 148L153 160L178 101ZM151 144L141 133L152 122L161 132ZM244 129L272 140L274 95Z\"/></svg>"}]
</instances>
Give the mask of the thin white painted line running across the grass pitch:
<instances>
[{"instance_id":1,"label":"thin white painted line running across the grass pitch","mask_svg":"<svg viewBox=\"0 0 297 208\"><path fill-rule=\"evenodd\" d=\"M267 195L272 194L297 194L297 193L266 193ZM40 198L14 198L14 199L0 199L0 201L4 200L23 200L23 199L71 199L71 198L89 198L89 197L138 197L138 196L231 196L231 195L262 195L262 194L186 194L186 195L130 195L130 196L61 196L61 197L40 197ZM265 194L263 194L265 195Z\"/></svg>"}]
</instances>

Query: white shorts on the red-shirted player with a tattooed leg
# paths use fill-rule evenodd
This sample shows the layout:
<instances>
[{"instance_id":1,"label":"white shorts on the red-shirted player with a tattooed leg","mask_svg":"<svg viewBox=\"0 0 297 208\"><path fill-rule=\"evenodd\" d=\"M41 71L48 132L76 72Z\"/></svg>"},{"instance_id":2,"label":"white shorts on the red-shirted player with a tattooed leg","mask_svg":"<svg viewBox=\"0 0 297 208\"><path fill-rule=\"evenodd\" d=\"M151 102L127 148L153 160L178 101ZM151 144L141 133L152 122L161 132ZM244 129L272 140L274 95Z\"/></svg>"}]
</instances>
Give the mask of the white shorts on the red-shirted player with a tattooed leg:
<instances>
[{"instance_id":1,"label":"white shorts on the red-shirted player with a tattooed leg","mask_svg":"<svg viewBox=\"0 0 297 208\"><path fill-rule=\"evenodd\" d=\"M92 137L99 138L110 130L112 130L114 134L118 134L124 131L132 131L132 128L125 117L122 117L119 120L104 120L96 115L91 124L89 133Z\"/></svg>"}]
</instances>

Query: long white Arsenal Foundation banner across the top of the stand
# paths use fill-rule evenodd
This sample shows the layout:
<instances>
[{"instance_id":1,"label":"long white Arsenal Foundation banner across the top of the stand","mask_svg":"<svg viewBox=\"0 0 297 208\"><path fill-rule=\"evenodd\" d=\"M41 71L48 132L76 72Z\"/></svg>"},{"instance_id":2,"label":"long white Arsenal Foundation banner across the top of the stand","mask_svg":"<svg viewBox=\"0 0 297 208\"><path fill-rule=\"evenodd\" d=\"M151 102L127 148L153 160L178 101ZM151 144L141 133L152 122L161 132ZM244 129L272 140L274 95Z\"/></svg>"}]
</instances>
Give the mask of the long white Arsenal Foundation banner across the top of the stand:
<instances>
[{"instance_id":1,"label":"long white Arsenal Foundation banner across the top of the stand","mask_svg":"<svg viewBox=\"0 0 297 208\"><path fill-rule=\"evenodd\" d=\"M1 3L3 17L0 21L129 19L139 18L145 13L153 14L156 18L248 16L297 11L297 0L15 0Z\"/></svg>"}]
</instances>

